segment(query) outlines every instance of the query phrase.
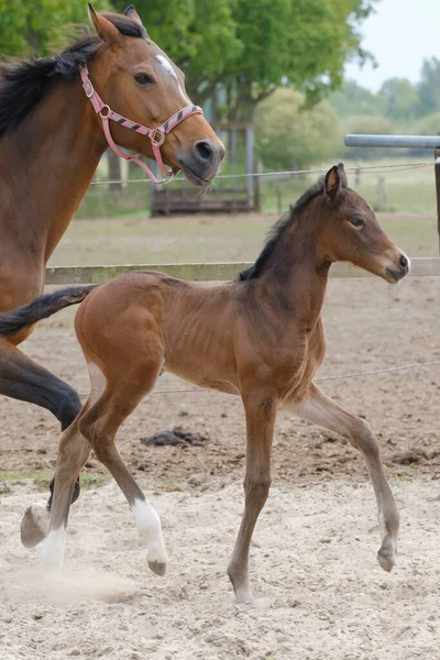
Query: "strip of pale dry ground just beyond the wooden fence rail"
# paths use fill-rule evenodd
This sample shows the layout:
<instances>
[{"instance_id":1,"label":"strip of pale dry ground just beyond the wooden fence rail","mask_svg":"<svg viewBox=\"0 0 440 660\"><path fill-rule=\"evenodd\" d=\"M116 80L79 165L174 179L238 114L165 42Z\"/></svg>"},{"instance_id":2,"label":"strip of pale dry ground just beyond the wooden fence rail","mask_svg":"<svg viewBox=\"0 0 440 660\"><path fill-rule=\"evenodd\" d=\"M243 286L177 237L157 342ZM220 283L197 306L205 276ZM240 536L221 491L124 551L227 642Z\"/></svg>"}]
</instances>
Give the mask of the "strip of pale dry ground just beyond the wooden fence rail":
<instances>
[{"instance_id":1,"label":"strip of pale dry ground just beyond the wooden fence rail","mask_svg":"<svg viewBox=\"0 0 440 660\"><path fill-rule=\"evenodd\" d=\"M380 213L380 222L410 256L438 256L433 216ZM276 216L190 216L168 219L76 220L51 265L252 261Z\"/></svg>"}]
</instances>

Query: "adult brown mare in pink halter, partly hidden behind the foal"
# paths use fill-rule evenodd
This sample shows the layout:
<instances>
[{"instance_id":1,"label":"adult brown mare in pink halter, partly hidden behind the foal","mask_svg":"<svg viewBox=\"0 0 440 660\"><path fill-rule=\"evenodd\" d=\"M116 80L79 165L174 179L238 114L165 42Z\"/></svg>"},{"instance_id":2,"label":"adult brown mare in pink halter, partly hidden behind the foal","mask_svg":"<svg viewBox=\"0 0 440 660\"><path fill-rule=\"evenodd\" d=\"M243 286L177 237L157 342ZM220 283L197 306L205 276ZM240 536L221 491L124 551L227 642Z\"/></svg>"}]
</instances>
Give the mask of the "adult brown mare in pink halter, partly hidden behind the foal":
<instances>
[{"instance_id":1,"label":"adult brown mare in pink halter, partly hidden behind the foal","mask_svg":"<svg viewBox=\"0 0 440 660\"><path fill-rule=\"evenodd\" d=\"M148 38L134 8L125 14L97 14L90 7L95 35L55 57L0 64L0 311L42 294L47 260L108 146L79 67L87 64L112 110L146 127L162 124L189 103L182 72ZM152 156L150 140L111 123L118 144ZM161 151L175 172L182 169L198 186L213 179L224 154L202 114L179 123ZM0 339L0 394L47 408L66 429L80 400L19 351L30 332ZM79 485L75 496L78 492ZM23 541L32 546L32 534Z\"/></svg>"}]
</instances>

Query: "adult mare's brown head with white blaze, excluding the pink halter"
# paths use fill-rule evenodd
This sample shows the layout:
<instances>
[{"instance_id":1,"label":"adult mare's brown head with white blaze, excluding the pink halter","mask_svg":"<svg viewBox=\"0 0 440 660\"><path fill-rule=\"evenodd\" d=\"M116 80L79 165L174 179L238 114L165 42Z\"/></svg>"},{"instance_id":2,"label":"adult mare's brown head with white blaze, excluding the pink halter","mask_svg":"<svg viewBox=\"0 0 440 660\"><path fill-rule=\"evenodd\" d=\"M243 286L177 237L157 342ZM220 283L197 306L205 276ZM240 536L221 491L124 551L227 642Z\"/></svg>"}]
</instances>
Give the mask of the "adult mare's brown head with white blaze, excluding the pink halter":
<instances>
[{"instance_id":1,"label":"adult mare's brown head with white blaze, excluding the pink halter","mask_svg":"<svg viewBox=\"0 0 440 660\"><path fill-rule=\"evenodd\" d=\"M101 40L90 62L90 77L105 103L133 122L155 128L190 105L184 74L148 37L136 11L99 14L90 7L90 20ZM150 140L112 124L114 141L152 156ZM161 147L164 161L202 186L213 179L224 146L202 114L193 114L167 134Z\"/></svg>"}]
</instances>

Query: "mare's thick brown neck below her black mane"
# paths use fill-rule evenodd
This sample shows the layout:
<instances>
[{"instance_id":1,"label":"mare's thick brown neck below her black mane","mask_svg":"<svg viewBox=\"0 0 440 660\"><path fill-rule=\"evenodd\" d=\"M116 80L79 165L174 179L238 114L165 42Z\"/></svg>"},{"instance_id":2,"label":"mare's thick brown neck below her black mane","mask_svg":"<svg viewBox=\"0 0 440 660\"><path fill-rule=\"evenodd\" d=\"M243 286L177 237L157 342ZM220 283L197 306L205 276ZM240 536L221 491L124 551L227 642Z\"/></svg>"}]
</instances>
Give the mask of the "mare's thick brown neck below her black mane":
<instances>
[{"instance_id":1,"label":"mare's thick brown neck below her black mane","mask_svg":"<svg viewBox=\"0 0 440 660\"><path fill-rule=\"evenodd\" d=\"M20 232L25 250L48 260L106 150L102 129L75 80L54 84L20 125L0 140L0 226ZM3 208L2 208L3 207Z\"/></svg>"}]
</instances>

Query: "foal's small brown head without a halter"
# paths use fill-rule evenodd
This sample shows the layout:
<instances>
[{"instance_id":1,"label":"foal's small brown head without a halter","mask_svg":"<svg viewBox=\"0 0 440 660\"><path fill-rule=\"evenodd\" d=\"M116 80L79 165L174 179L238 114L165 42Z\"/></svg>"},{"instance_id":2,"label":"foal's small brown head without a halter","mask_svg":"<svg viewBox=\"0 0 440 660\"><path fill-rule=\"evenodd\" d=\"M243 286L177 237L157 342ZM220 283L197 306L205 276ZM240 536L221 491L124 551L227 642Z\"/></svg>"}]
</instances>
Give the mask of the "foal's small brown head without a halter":
<instances>
[{"instance_id":1,"label":"foal's small brown head without a halter","mask_svg":"<svg viewBox=\"0 0 440 660\"><path fill-rule=\"evenodd\" d=\"M326 175L319 251L323 261L346 261L396 284L409 272L409 258L380 227L369 204L346 184L343 165Z\"/></svg>"}]
</instances>

